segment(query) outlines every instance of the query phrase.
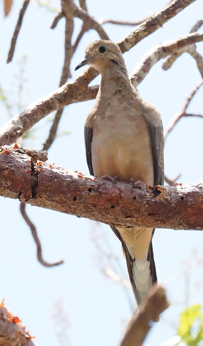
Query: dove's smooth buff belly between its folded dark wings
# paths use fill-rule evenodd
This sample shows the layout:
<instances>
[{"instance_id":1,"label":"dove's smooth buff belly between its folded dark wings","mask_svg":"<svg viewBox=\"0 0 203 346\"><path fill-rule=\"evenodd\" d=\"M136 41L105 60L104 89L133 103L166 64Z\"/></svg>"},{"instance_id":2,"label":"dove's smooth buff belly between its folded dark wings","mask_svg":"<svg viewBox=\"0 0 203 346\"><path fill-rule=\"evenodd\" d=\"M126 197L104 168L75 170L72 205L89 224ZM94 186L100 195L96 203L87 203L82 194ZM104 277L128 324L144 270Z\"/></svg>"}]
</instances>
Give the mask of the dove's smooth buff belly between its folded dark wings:
<instances>
[{"instance_id":1,"label":"dove's smooth buff belly between its folded dark wings","mask_svg":"<svg viewBox=\"0 0 203 346\"><path fill-rule=\"evenodd\" d=\"M119 125L119 126L118 126ZM94 175L130 178L154 185L154 165L151 140L144 121L126 121L105 126L105 119L94 128L92 138L92 166Z\"/></svg>"}]
</instances>

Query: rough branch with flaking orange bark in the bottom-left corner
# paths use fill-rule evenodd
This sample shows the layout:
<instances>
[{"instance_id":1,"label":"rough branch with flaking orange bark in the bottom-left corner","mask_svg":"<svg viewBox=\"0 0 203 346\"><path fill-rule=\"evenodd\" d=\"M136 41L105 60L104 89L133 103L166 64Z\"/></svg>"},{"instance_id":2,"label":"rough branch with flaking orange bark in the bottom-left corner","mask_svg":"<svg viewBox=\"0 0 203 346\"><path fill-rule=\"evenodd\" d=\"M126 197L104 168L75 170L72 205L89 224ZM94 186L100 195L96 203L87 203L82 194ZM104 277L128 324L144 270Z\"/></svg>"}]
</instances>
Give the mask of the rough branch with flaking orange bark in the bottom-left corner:
<instances>
[{"instance_id":1,"label":"rough branch with flaking orange bark in the bottom-left corner","mask_svg":"<svg viewBox=\"0 0 203 346\"><path fill-rule=\"evenodd\" d=\"M17 316L13 316L0 304L0 346L35 346L29 332L21 325Z\"/></svg>"}]
</instances>

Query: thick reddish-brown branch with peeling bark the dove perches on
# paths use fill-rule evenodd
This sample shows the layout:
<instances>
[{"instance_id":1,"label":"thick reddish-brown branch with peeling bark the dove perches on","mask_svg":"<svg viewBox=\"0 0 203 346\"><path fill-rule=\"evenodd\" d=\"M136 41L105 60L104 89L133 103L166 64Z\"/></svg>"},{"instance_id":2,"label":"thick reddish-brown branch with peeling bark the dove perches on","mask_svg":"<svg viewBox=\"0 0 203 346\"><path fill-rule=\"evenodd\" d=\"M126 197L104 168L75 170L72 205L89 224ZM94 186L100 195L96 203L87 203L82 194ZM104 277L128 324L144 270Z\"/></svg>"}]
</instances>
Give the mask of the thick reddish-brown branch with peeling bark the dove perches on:
<instances>
[{"instance_id":1,"label":"thick reddish-brown branch with peeling bark the dove perches on","mask_svg":"<svg viewBox=\"0 0 203 346\"><path fill-rule=\"evenodd\" d=\"M36 163L17 145L1 148L0 195L110 225L203 229L203 181L133 188Z\"/></svg>"}]
</instances>

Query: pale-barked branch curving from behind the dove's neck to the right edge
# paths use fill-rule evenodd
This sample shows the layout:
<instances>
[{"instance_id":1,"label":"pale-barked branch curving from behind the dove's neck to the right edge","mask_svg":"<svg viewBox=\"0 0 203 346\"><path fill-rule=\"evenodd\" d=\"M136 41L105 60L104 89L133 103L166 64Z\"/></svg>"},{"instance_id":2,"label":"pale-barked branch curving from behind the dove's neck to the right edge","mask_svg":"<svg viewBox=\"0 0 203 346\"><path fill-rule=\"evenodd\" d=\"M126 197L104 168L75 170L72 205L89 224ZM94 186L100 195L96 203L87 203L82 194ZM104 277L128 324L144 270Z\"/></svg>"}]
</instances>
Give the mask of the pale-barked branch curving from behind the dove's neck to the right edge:
<instances>
[{"instance_id":1,"label":"pale-barked branch curving from behind the dove's neck to the right edge","mask_svg":"<svg viewBox=\"0 0 203 346\"><path fill-rule=\"evenodd\" d=\"M143 81L146 75L149 73L150 69L160 60L165 58L172 53L179 51L180 48L187 47L194 42L203 41L203 34L193 33L187 36L178 38L174 41L164 42L150 49L142 58L140 63L136 66L135 70L131 74L132 84L137 88L137 86Z\"/></svg>"}]
</instances>

